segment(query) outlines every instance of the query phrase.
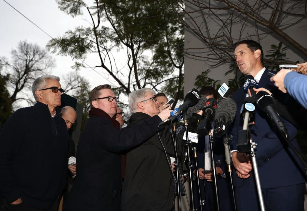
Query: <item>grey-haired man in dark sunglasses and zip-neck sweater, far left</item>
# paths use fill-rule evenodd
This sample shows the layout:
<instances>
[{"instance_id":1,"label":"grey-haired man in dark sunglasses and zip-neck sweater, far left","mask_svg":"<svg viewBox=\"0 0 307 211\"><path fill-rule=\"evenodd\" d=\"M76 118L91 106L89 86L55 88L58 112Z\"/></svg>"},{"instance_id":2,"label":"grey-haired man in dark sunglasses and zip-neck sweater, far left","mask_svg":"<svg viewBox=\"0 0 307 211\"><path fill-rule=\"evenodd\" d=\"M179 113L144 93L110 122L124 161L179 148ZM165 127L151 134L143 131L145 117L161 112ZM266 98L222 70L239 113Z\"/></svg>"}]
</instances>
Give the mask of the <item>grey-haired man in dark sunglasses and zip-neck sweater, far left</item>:
<instances>
[{"instance_id":1,"label":"grey-haired man in dark sunglasses and zip-neck sweater, far left","mask_svg":"<svg viewBox=\"0 0 307 211\"><path fill-rule=\"evenodd\" d=\"M60 78L34 80L34 106L21 108L0 133L0 210L55 211L67 175L68 133L56 115Z\"/></svg>"}]
</instances>

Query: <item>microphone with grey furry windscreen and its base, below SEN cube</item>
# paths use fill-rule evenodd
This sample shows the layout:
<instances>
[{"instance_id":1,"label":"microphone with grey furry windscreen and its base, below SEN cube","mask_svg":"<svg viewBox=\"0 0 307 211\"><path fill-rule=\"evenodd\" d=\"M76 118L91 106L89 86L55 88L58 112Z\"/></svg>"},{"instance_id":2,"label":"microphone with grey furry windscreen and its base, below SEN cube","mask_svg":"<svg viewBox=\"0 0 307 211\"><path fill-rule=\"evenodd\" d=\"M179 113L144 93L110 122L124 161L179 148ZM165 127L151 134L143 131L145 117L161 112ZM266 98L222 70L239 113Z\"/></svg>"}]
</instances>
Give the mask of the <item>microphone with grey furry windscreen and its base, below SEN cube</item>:
<instances>
[{"instance_id":1,"label":"microphone with grey furry windscreen and its base, below SEN cube","mask_svg":"<svg viewBox=\"0 0 307 211\"><path fill-rule=\"evenodd\" d=\"M213 130L216 137L221 137L225 134L225 130L234 120L236 112L237 104L233 99L223 98L219 100L215 111L216 128Z\"/></svg>"}]
</instances>

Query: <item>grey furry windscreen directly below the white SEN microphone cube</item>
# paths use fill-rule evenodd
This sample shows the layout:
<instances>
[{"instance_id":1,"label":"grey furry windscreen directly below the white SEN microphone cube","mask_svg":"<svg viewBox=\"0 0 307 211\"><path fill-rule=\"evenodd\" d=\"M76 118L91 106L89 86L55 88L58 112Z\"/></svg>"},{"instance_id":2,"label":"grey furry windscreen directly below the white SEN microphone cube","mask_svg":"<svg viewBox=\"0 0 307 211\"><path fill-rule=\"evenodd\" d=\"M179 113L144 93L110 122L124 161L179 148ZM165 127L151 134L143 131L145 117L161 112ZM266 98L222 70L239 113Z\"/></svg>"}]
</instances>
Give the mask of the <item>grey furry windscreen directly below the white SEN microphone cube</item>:
<instances>
[{"instance_id":1,"label":"grey furry windscreen directly below the white SEN microphone cube","mask_svg":"<svg viewBox=\"0 0 307 211\"><path fill-rule=\"evenodd\" d=\"M225 117L225 124L231 123L235 118L237 112L237 104L231 98L223 98L219 100L216 106L215 116L219 121L221 117Z\"/></svg>"}]
</instances>

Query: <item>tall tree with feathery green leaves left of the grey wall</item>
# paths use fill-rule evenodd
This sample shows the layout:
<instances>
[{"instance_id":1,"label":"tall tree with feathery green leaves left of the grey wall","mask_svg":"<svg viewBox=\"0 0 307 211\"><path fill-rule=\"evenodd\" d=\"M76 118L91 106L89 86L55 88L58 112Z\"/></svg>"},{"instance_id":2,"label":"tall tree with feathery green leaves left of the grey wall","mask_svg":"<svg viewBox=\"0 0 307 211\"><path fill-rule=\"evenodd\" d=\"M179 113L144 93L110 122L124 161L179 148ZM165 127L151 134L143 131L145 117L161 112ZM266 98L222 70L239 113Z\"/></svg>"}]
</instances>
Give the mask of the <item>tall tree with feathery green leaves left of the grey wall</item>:
<instances>
[{"instance_id":1,"label":"tall tree with feathery green leaves left of the grey wall","mask_svg":"<svg viewBox=\"0 0 307 211\"><path fill-rule=\"evenodd\" d=\"M119 86L119 93L149 87L183 99L184 27L179 4L173 0L95 0L91 6L80 0L59 0L60 10L75 17L87 14L91 28L78 27L52 39L47 48L72 56L75 69L83 67L89 53ZM124 51L126 59L114 58L113 51ZM119 67L119 63L123 63ZM124 76L124 77L123 77Z\"/></svg>"}]
</instances>

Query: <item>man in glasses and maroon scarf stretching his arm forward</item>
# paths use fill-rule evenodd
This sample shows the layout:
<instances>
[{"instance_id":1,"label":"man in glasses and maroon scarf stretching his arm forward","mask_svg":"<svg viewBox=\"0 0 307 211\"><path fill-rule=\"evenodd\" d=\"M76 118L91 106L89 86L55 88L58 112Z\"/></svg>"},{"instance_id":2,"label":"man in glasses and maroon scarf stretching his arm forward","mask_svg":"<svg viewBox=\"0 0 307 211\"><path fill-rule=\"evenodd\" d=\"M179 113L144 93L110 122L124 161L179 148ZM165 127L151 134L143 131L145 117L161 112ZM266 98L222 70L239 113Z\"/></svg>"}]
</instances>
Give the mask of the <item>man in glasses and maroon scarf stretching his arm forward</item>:
<instances>
[{"instance_id":1,"label":"man in glasses and maroon scarf stretching his arm forward","mask_svg":"<svg viewBox=\"0 0 307 211\"><path fill-rule=\"evenodd\" d=\"M89 119L81 133L78 147L78 173L64 207L65 211L119 210L122 183L120 153L132 149L153 136L170 110L157 113L120 129L113 119L118 97L110 85L91 90Z\"/></svg>"}]
</instances>

